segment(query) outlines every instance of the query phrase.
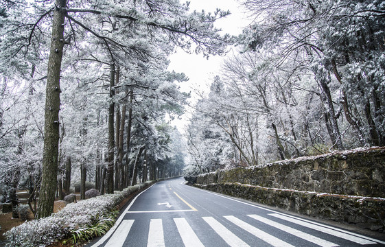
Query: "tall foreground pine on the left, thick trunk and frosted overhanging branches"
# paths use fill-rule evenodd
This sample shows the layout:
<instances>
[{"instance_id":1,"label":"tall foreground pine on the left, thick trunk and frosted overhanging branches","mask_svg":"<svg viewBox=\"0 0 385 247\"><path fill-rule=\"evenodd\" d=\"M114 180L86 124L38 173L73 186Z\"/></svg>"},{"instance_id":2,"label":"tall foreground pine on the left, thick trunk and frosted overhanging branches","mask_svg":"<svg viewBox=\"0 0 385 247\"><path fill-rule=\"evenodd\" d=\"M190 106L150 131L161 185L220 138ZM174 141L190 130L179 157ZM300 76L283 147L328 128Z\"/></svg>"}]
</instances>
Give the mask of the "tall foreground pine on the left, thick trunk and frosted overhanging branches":
<instances>
[{"instance_id":1,"label":"tall foreground pine on the left, thick trunk and frosted overhanging branches","mask_svg":"<svg viewBox=\"0 0 385 247\"><path fill-rule=\"evenodd\" d=\"M25 3L25 5L27 4L29 3ZM28 29L30 31L28 35L13 43L14 54L12 56L21 52L29 54L35 44L37 50L43 47L44 44L39 43L41 41L39 38L45 37L47 28L51 27L46 87L43 180L37 214L37 217L45 217L52 212L54 202L54 187L56 187L54 181L56 181L58 171L60 70L64 71L61 65L63 47L69 43L70 37L73 40L73 47L69 47L67 51L82 54L87 48L80 43L84 40L98 40L98 46L104 48L108 54L108 60L117 62L117 64L124 58L134 58L137 61L156 58L159 54L154 54L152 51L157 50L170 54L173 45L189 50L191 43L195 44L196 52L202 52L205 56L222 54L224 47L230 43L230 38L220 36L219 30L213 27L213 22L226 16L229 12L218 10L214 15L205 12L188 12L188 4L180 4L178 1L160 1L155 5L152 1L121 1L114 4L110 4L110 1L98 1L97 3L69 1L67 5L67 1L57 0L52 6L36 3L31 10L36 10L34 14L38 14L38 18L36 21L32 21L32 24L23 25L23 28L16 27L15 30L18 32ZM47 25L46 19L49 19L52 13L54 19L51 25ZM65 32L67 24L70 28ZM141 41L144 42L137 42L137 34L140 36L145 33L146 35L141 36ZM10 36L10 32L8 32L8 36ZM84 40L77 40L77 38L84 38ZM166 40L171 41L167 41L171 45L165 45ZM159 44L163 44L163 47ZM157 48L154 49L154 47ZM12 59L12 56L8 57ZM108 170L109 180L113 180L110 179L110 175L113 176L111 170ZM108 191L111 192L111 186L108 186Z\"/></svg>"}]
</instances>

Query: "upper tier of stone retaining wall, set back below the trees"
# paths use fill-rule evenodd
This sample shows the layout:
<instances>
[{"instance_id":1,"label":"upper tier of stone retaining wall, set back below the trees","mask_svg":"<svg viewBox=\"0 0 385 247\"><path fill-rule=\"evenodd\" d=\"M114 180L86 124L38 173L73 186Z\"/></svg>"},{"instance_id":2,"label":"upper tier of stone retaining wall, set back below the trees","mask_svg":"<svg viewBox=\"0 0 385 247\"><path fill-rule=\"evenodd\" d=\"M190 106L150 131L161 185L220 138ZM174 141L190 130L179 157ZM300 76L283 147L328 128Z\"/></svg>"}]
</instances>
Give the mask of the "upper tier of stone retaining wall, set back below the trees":
<instances>
[{"instance_id":1,"label":"upper tier of stone retaining wall, set back below the trees","mask_svg":"<svg viewBox=\"0 0 385 247\"><path fill-rule=\"evenodd\" d=\"M385 148L360 148L255 167L218 170L198 176L197 183L242 183L385 198Z\"/></svg>"}]
</instances>

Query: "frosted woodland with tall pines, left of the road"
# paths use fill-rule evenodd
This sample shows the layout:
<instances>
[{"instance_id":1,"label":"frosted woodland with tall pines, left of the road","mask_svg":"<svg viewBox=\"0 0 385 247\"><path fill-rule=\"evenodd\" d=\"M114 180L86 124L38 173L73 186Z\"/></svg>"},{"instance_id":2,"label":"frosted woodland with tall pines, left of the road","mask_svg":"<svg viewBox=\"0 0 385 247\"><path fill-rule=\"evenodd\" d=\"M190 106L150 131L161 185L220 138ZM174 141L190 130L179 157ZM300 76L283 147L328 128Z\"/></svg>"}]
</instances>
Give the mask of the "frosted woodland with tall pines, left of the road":
<instances>
[{"instance_id":1,"label":"frosted woodland with tall pines, left of the road","mask_svg":"<svg viewBox=\"0 0 385 247\"><path fill-rule=\"evenodd\" d=\"M167 71L180 47L223 54L216 19L179 1L1 2L0 184L36 218L80 183L101 193L181 174L183 138L170 125L188 93ZM145 175L143 175L145 174ZM38 207L36 207L38 197ZM15 215L16 216L16 215Z\"/></svg>"}]
</instances>

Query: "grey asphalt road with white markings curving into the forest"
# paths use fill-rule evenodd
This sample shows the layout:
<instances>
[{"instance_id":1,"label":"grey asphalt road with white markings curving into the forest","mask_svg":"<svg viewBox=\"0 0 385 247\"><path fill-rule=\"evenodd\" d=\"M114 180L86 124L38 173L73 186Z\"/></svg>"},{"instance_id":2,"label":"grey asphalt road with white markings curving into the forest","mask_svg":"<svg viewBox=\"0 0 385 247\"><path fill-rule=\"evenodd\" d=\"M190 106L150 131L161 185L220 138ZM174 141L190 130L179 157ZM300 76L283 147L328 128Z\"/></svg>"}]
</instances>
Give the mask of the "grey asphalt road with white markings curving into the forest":
<instances>
[{"instance_id":1,"label":"grey asphalt road with white markings curving into the forest","mask_svg":"<svg viewBox=\"0 0 385 247\"><path fill-rule=\"evenodd\" d=\"M183 184L156 183L89 246L385 246L385 242Z\"/></svg>"}]
</instances>

